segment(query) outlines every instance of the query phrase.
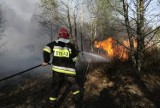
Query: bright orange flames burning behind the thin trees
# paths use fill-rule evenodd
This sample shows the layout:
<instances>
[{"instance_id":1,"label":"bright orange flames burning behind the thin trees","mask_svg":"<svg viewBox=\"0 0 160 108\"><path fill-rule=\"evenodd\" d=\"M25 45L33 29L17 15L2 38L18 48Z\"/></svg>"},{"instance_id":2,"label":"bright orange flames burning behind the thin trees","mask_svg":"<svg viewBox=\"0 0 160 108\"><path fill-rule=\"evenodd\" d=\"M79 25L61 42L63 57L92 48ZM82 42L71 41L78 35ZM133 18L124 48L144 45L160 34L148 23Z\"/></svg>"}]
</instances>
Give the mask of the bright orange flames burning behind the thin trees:
<instances>
[{"instance_id":1,"label":"bright orange flames burning behind the thin trees","mask_svg":"<svg viewBox=\"0 0 160 108\"><path fill-rule=\"evenodd\" d=\"M129 47L129 41L123 41L122 43L124 46ZM122 60L128 59L128 51L127 49L118 44L113 38L109 37L103 41L95 41L94 47L103 49L106 52L106 56L110 58L118 57Z\"/></svg>"}]
</instances>

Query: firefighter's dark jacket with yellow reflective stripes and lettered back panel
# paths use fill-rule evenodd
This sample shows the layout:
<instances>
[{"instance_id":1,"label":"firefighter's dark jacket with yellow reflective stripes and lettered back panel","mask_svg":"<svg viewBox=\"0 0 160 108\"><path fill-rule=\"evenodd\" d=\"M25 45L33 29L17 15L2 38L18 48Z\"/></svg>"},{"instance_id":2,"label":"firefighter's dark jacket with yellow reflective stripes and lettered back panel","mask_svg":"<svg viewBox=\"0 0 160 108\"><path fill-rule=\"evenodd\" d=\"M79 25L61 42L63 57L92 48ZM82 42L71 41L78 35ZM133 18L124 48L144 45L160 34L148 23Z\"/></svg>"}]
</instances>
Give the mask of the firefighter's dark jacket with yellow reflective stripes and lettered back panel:
<instances>
[{"instance_id":1,"label":"firefighter's dark jacket with yellow reflective stripes and lettered back panel","mask_svg":"<svg viewBox=\"0 0 160 108\"><path fill-rule=\"evenodd\" d=\"M49 63L52 54L52 70L59 73L75 75L75 62L78 52L73 44L53 41L43 49L44 62Z\"/></svg>"}]
</instances>

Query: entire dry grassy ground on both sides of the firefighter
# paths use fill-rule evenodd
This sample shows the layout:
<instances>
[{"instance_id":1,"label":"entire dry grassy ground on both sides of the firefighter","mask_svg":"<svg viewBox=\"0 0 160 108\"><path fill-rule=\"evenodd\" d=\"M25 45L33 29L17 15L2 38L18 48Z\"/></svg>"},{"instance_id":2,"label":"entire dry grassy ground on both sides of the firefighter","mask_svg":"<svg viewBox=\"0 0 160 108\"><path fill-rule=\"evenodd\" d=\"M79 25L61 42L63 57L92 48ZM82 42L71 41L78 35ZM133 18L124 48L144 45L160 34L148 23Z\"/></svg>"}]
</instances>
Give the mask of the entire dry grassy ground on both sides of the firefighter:
<instances>
[{"instance_id":1,"label":"entire dry grassy ground on both sides of the firefighter","mask_svg":"<svg viewBox=\"0 0 160 108\"><path fill-rule=\"evenodd\" d=\"M129 69L111 73L104 68L98 66L88 70L84 82L84 108L160 107L158 73L137 74ZM50 73L35 76L26 74L18 78L18 81L14 78L0 82L0 107L48 108L50 82ZM65 98L61 108L65 108L64 106L72 108L73 103L69 98Z\"/></svg>"}]
</instances>

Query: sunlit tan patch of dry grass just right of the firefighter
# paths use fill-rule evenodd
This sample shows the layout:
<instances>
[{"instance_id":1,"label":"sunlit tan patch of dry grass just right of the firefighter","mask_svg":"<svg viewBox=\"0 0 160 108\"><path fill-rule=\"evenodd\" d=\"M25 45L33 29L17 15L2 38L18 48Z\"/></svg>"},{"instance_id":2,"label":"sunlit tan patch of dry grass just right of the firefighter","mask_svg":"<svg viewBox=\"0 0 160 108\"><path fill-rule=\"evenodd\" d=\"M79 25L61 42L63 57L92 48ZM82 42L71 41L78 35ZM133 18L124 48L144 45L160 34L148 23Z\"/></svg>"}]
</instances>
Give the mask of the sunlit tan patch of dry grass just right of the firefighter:
<instances>
[{"instance_id":1,"label":"sunlit tan patch of dry grass just right of the firefighter","mask_svg":"<svg viewBox=\"0 0 160 108\"><path fill-rule=\"evenodd\" d=\"M102 72L102 69L95 69L87 75L84 85L85 100L98 97L103 89L114 85Z\"/></svg>"}]
</instances>

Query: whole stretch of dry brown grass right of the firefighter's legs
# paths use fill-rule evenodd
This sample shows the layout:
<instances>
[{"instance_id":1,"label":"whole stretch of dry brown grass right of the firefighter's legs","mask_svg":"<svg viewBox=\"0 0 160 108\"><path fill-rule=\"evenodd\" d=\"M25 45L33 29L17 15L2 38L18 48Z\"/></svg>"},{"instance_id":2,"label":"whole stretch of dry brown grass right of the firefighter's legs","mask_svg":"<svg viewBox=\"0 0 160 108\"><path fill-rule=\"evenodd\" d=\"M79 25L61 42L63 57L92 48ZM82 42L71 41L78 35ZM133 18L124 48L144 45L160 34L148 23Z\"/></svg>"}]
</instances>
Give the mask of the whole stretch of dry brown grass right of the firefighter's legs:
<instances>
[{"instance_id":1,"label":"whole stretch of dry brown grass right of the firefighter's legs","mask_svg":"<svg viewBox=\"0 0 160 108\"><path fill-rule=\"evenodd\" d=\"M129 69L128 63L118 64L118 69L112 67L111 63L99 64L90 69L85 82L86 106L89 108L160 107L159 73L137 74Z\"/></svg>"}]
</instances>

